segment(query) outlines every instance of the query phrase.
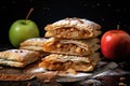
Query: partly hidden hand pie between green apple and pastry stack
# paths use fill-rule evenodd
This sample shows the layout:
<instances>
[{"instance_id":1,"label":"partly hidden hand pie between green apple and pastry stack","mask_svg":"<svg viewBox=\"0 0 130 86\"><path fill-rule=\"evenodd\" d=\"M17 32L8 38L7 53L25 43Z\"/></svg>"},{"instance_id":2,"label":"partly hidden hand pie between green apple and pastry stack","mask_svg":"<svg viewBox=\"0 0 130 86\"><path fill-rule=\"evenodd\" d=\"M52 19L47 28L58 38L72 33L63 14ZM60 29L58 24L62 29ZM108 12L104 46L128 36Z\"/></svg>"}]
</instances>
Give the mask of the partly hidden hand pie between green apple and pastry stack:
<instances>
[{"instance_id":1,"label":"partly hidden hand pie between green apple and pastry stack","mask_svg":"<svg viewBox=\"0 0 130 86\"><path fill-rule=\"evenodd\" d=\"M37 52L43 52L43 43L47 41L46 38L32 38L21 43L21 49L30 49Z\"/></svg>"}]
</instances>

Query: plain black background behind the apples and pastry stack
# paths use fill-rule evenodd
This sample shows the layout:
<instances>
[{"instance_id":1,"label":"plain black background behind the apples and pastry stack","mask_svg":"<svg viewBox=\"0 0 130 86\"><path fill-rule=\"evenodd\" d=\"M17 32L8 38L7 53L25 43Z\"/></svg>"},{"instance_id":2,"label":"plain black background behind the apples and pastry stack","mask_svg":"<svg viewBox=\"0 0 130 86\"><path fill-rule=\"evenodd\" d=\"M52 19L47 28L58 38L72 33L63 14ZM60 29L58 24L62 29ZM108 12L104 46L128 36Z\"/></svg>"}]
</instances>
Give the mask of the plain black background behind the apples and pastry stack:
<instances>
[{"instance_id":1,"label":"plain black background behind the apples and pastry stack","mask_svg":"<svg viewBox=\"0 0 130 86\"><path fill-rule=\"evenodd\" d=\"M129 0L128 0L129 1ZM43 37L47 24L66 17L80 17L102 26L103 33L119 25L130 33L130 3L127 0L0 0L0 46L10 46L9 29L13 22L25 18L30 8Z\"/></svg>"}]
</instances>

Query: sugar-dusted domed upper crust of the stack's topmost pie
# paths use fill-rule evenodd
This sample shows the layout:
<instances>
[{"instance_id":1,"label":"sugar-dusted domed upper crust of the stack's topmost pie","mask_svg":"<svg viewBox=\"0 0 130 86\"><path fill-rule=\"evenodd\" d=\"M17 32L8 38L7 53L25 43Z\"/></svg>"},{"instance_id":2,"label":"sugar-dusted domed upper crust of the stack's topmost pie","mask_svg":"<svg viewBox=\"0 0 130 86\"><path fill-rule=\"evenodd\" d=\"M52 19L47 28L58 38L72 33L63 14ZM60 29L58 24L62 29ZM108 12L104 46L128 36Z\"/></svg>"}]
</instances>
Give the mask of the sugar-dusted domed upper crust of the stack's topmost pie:
<instances>
[{"instance_id":1,"label":"sugar-dusted domed upper crust of the stack's topmost pie","mask_svg":"<svg viewBox=\"0 0 130 86\"><path fill-rule=\"evenodd\" d=\"M93 30L93 29L101 29L101 26L94 22L84 18L65 18L57 20L51 25L48 25L44 29L46 30L54 30L62 27L75 27L78 30Z\"/></svg>"}]
</instances>

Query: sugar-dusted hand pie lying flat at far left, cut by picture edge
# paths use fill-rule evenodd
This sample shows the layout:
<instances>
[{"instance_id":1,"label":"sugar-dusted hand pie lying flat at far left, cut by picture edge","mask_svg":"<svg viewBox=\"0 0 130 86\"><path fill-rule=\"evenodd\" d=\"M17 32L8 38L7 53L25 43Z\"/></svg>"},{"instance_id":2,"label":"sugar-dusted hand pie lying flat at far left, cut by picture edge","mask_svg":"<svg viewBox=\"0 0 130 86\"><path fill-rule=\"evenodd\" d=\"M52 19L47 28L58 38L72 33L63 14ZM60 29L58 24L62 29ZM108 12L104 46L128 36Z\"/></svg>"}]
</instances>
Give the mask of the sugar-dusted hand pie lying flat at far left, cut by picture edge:
<instances>
[{"instance_id":1,"label":"sugar-dusted hand pie lying flat at far left, cut by picture edge","mask_svg":"<svg viewBox=\"0 0 130 86\"><path fill-rule=\"evenodd\" d=\"M40 54L27 49L8 49L0 52L0 64L15 68L24 68L25 66L40 59Z\"/></svg>"}]
</instances>

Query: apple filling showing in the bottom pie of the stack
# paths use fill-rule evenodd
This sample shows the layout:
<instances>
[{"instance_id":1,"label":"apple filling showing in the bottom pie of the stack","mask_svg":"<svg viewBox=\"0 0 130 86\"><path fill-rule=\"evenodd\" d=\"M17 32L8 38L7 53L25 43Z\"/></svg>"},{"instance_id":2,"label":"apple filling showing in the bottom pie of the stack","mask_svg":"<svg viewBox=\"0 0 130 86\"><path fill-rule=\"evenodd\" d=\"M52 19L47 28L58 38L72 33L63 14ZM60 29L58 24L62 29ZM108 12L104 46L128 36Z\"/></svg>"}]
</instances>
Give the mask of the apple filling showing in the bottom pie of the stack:
<instances>
[{"instance_id":1,"label":"apple filling showing in the bottom pie of the stack","mask_svg":"<svg viewBox=\"0 0 130 86\"><path fill-rule=\"evenodd\" d=\"M73 69L75 71L92 71L93 64L86 63L86 62L74 62L74 61L44 61L40 66L43 68L48 68L49 70L56 70L56 71L67 71L68 69Z\"/></svg>"}]
</instances>

